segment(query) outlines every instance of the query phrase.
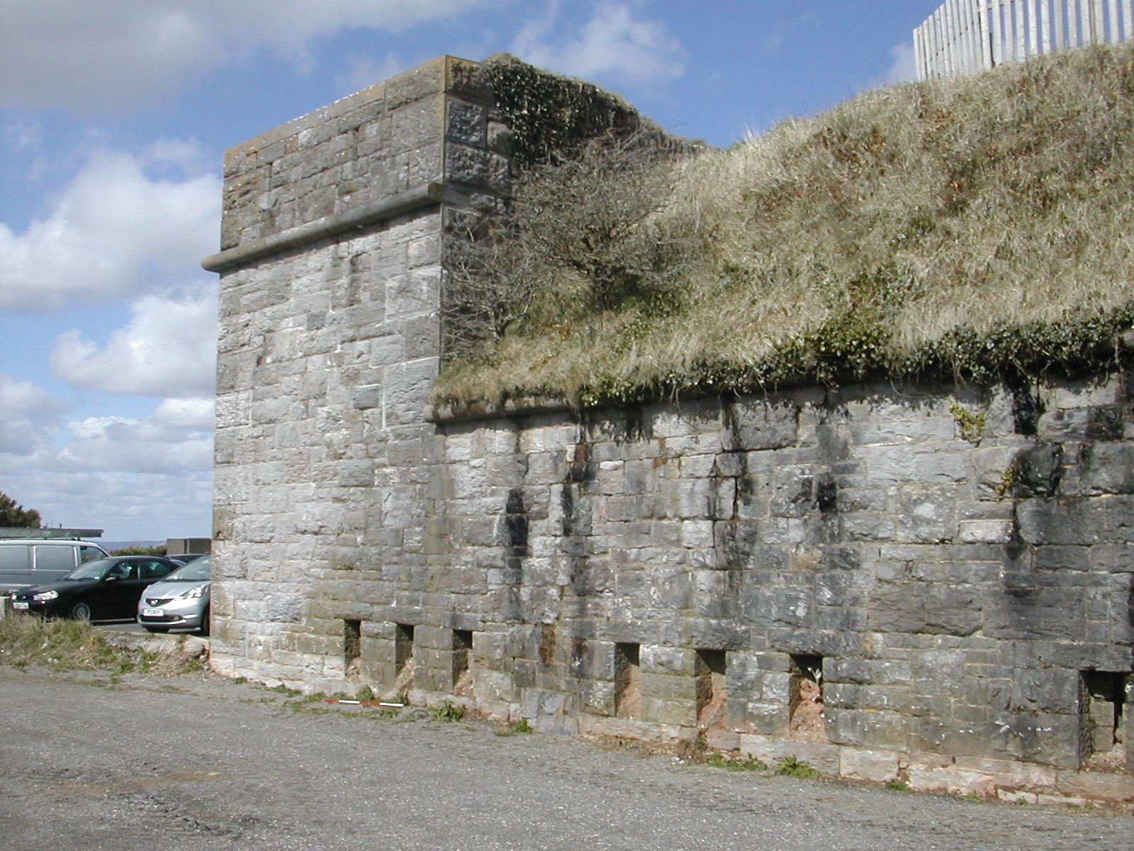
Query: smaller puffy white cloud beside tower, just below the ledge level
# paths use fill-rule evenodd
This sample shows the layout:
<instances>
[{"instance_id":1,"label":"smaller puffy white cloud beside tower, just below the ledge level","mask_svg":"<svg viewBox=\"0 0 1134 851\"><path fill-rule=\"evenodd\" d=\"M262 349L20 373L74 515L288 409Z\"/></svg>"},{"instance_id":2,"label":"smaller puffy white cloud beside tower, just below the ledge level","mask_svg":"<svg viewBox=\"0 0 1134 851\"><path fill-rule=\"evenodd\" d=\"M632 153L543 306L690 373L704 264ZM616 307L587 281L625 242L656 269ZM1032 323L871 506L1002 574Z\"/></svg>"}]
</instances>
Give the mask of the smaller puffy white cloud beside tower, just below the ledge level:
<instances>
[{"instance_id":1,"label":"smaller puffy white cloud beside tower, just below the ledge level","mask_svg":"<svg viewBox=\"0 0 1134 851\"><path fill-rule=\"evenodd\" d=\"M143 396L211 397L217 364L217 287L146 295L104 346L79 329L61 334L51 369L90 390Z\"/></svg>"}]
</instances>

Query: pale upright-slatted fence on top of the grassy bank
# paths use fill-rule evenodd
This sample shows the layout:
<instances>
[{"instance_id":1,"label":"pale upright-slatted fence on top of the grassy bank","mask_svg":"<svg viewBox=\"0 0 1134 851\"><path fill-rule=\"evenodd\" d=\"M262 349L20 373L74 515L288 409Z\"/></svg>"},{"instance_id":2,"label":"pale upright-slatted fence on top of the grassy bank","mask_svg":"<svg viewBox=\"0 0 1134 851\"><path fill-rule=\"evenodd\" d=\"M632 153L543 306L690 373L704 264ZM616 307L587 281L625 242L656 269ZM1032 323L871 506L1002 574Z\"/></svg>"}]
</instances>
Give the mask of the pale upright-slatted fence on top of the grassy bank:
<instances>
[{"instance_id":1,"label":"pale upright-slatted fence on top of the grassy bank","mask_svg":"<svg viewBox=\"0 0 1134 851\"><path fill-rule=\"evenodd\" d=\"M946 0L914 30L914 53L931 79L1132 39L1132 0Z\"/></svg>"}]
</instances>

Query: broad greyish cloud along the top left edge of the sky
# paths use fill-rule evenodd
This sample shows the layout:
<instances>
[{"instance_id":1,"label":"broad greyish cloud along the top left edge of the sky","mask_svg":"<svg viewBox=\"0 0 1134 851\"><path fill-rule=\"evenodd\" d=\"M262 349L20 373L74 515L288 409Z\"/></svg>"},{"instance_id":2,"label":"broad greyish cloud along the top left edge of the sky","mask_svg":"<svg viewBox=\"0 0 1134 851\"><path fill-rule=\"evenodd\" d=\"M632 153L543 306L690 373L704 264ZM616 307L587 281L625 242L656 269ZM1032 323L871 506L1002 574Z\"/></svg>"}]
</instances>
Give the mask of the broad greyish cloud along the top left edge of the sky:
<instances>
[{"instance_id":1,"label":"broad greyish cloud along the top left edge of the sky","mask_svg":"<svg viewBox=\"0 0 1134 851\"><path fill-rule=\"evenodd\" d=\"M401 32L484 0L0 0L0 103L121 110L269 48L301 65L346 27Z\"/></svg>"}]
</instances>

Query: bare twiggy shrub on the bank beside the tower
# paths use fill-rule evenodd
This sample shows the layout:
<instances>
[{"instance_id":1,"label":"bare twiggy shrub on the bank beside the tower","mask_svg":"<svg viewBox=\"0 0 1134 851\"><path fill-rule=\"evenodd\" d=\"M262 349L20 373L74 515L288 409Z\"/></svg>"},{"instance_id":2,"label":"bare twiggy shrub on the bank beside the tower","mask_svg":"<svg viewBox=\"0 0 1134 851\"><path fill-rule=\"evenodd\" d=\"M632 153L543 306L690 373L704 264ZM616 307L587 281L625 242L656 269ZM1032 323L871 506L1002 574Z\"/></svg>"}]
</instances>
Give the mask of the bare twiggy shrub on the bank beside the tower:
<instances>
[{"instance_id":1,"label":"bare twiggy shrub on the bank beside the tower","mask_svg":"<svg viewBox=\"0 0 1134 851\"><path fill-rule=\"evenodd\" d=\"M674 161L689 146L657 132L607 134L517 182L508 217L455 234L447 359L485 356L509 331L583 322L629 300L675 293L691 235L660 225Z\"/></svg>"}]
</instances>

